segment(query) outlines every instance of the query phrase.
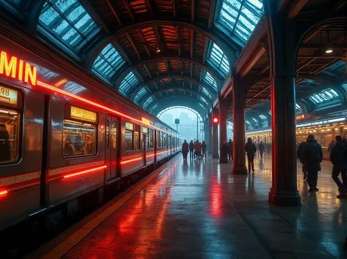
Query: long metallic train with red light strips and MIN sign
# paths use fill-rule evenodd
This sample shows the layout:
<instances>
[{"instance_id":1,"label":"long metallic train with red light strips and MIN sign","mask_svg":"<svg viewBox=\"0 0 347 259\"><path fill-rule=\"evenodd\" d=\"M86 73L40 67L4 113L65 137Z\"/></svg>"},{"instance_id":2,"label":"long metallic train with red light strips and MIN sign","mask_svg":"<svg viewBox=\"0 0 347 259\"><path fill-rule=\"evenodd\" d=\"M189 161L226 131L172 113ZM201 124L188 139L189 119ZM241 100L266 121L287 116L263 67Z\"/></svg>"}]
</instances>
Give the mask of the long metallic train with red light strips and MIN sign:
<instances>
[{"instance_id":1,"label":"long metallic train with red light strips and MIN sign","mask_svg":"<svg viewBox=\"0 0 347 259\"><path fill-rule=\"evenodd\" d=\"M0 231L180 152L176 130L42 53L0 35Z\"/></svg>"}]
</instances>

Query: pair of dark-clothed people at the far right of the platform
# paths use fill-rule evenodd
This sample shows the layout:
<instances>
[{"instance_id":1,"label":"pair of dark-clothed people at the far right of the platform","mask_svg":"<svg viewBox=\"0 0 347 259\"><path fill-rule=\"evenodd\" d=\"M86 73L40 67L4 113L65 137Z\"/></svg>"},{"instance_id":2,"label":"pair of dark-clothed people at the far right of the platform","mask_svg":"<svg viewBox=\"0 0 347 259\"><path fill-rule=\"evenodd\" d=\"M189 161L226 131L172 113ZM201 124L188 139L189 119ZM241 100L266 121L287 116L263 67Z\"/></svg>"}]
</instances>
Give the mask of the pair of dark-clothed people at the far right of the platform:
<instances>
[{"instance_id":1,"label":"pair of dark-clothed people at the far right of the platform","mask_svg":"<svg viewBox=\"0 0 347 259\"><path fill-rule=\"evenodd\" d=\"M347 140L341 136L335 137L335 142L330 143L328 151L330 152L330 161L332 162L332 179L339 188L337 198L345 197L347 192ZM303 179L307 181L310 187L309 192L317 192L318 172L321 171L321 161L323 161L323 152L321 145L314 139L314 135L307 136L306 141L298 145L297 157L301 161L303 169ZM339 175L341 174L341 179Z\"/></svg>"}]
</instances>

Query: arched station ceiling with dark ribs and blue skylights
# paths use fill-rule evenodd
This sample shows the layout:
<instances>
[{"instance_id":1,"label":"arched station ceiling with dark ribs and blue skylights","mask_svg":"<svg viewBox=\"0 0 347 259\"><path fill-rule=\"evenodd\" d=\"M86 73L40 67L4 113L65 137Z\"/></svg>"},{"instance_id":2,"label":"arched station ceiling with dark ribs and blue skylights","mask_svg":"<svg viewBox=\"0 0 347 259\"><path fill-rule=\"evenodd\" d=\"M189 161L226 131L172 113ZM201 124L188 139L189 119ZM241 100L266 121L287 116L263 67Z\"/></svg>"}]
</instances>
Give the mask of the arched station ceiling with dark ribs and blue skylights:
<instances>
[{"instance_id":1,"label":"arched station ceiling with dark ribs and blue skylights","mask_svg":"<svg viewBox=\"0 0 347 259\"><path fill-rule=\"evenodd\" d=\"M0 5L28 33L58 46L137 105L148 104L150 96L158 105L167 96L174 102L185 97L205 112L262 15L260 0L1 0Z\"/></svg>"}]
</instances>

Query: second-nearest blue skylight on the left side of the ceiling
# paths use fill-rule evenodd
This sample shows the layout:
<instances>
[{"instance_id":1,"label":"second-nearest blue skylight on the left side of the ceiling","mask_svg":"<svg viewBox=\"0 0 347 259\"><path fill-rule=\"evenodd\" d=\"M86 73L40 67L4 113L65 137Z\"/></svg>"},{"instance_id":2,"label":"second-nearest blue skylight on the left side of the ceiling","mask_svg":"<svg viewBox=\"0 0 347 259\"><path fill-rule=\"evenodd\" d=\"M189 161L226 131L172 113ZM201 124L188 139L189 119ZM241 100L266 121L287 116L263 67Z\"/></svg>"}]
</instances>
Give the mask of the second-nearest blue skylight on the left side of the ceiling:
<instances>
[{"instance_id":1,"label":"second-nearest blue skylight on the left side of the ceiling","mask_svg":"<svg viewBox=\"0 0 347 259\"><path fill-rule=\"evenodd\" d=\"M112 44L108 44L96 57L92 66L92 72L110 80L113 75L126 63Z\"/></svg>"}]
</instances>

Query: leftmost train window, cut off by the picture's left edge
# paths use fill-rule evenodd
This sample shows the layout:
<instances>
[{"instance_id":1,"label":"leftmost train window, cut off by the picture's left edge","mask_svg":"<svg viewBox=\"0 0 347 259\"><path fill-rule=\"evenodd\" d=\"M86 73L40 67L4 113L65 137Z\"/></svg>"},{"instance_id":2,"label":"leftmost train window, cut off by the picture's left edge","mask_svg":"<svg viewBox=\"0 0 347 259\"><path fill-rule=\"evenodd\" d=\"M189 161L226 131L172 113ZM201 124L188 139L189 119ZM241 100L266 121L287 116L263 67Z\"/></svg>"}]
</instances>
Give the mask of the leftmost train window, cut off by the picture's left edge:
<instances>
[{"instance_id":1,"label":"leftmost train window, cut off by the picture's left edge","mask_svg":"<svg viewBox=\"0 0 347 259\"><path fill-rule=\"evenodd\" d=\"M0 107L0 163L19 158L20 117L19 112Z\"/></svg>"}]
</instances>

